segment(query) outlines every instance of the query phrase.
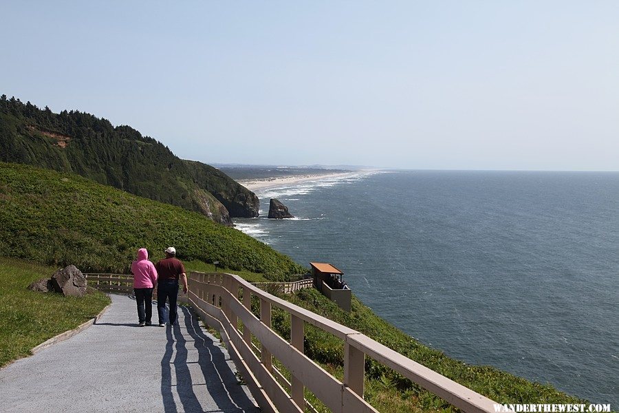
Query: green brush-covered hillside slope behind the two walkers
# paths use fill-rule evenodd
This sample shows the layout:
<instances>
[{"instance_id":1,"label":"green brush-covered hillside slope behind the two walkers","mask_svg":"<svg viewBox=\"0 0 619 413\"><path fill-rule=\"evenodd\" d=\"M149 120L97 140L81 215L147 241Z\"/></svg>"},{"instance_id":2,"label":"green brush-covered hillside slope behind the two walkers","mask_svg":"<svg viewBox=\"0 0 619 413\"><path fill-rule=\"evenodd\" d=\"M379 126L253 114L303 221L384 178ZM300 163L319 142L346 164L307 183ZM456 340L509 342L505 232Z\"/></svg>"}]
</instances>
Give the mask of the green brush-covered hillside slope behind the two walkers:
<instances>
[{"instance_id":1,"label":"green brush-covered hillside slope behind the two walkers","mask_svg":"<svg viewBox=\"0 0 619 413\"><path fill-rule=\"evenodd\" d=\"M82 271L127 273L138 248L219 261L272 280L305 268L252 237L180 207L70 173L0 162L0 248L6 255Z\"/></svg>"}]
</instances>

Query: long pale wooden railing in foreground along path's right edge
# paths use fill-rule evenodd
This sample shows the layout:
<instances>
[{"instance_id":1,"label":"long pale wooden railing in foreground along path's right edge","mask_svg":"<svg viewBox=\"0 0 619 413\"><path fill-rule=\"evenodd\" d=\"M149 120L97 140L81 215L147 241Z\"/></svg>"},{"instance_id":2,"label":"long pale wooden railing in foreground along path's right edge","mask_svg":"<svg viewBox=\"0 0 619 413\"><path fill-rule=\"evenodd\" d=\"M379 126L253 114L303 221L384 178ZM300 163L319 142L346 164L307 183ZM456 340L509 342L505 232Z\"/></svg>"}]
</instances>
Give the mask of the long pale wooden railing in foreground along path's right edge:
<instances>
[{"instance_id":1,"label":"long pale wooden railing in foreground along path's right edge","mask_svg":"<svg viewBox=\"0 0 619 413\"><path fill-rule=\"evenodd\" d=\"M260 302L260 317L251 310ZM363 399L365 357L384 364L465 412L495 412L495 402L473 392L402 354L334 321L265 293L241 277L222 273L191 273L188 301L206 324L216 328L254 399L265 412L303 412L304 388L333 412L376 412ZM290 342L271 327L272 306L290 314ZM242 328L239 328L239 320ZM303 354L303 326L312 324L344 343L344 378L339 381ZM259 356L252 337L259 342ZM273 357L290 372L287 381L273 366Z\"/></svg>"}]
</instances>

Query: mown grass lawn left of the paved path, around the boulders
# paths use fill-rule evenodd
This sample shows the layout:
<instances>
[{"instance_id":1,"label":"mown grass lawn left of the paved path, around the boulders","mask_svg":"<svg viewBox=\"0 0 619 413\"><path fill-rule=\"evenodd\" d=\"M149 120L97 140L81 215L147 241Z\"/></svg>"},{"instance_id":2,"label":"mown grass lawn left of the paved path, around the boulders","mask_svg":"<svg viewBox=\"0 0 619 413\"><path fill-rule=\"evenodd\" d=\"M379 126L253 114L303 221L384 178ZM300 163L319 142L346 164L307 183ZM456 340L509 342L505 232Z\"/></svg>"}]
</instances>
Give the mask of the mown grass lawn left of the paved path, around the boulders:
<instances>
[{"instance_id":1,"label":"mown grass lawn left of the paved path, around the boulders","mask_svg":"<svg viewBox=\"0 0 619 413\"><path fill-rule=\"evenodd\" d=\"M0 258L0 367L30 355L30 350L55 335L93 318L111 301L89 289L84 297L36 293L28 285L51 277L57 268Z\"/></svg>"}]
</instances>

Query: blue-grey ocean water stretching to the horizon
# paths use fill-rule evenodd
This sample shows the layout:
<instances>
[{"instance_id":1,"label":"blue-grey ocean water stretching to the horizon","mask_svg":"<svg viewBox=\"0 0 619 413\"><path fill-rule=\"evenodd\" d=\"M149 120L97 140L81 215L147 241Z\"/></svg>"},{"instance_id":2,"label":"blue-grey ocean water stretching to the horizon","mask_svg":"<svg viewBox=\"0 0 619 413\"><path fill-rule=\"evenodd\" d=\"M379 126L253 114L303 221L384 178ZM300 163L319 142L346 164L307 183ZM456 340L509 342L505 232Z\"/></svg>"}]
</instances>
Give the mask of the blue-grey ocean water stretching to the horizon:
<instances>
[{"instance_id":1,"label":"blue-grey ocean water stretching to the horizon","mask_svg":"<svg viewBox=\"0 0 619 413\"><path fill-rule=\"evenodd\" d=\"M360 173L257 195L238 229L334 264L415 339L619 407L619 173ZM297 218L265 218L269 198Z\"/></svg>"}]
</instances>

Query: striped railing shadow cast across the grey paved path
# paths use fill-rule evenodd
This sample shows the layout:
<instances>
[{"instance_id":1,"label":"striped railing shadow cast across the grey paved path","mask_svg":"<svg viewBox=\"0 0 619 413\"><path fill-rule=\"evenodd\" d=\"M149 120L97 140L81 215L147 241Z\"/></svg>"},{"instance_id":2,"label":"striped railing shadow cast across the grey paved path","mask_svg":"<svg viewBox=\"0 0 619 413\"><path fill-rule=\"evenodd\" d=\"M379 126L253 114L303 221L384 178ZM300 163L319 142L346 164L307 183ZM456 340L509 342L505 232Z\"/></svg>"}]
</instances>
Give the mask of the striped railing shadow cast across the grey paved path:
<instances>
[{"instance_id":1,"label":"striped railing shadow cast across the grey paved path","mask_svg":"<svg viewBox=\"0 0 619 413\"><path fill-rule=\"evenodd\" d=\"M230 370L226 355L221 348L213 343L199 326L197 317L187 307L179 306L178 323L173 327L166 327L166 352L162 359L162 398L164 401L165 412L176 412L177 405L174 401L172 389L172 371L174 368L176 378L176 392L182 410L184 412L260 412L259 408L249 399L243 388L239 384L234 372ZM182 324L182 326L179 326ZM186 339L182 330L187 329L191 339ZM198 359L188 360L188 345L197 350ZM172 361L173 353L174 361ZM194 383L189 364L199 366L196 374L193 369L193 376L199 383ZM172 367L173 366L173 367ZM196 378L197 377L197 378ZM204 383L202 382L204 379ZM204 401L205 393L210 394L215 405ZM215 409L217 407L217 410Z\"/></svg>"}]
</instances>

